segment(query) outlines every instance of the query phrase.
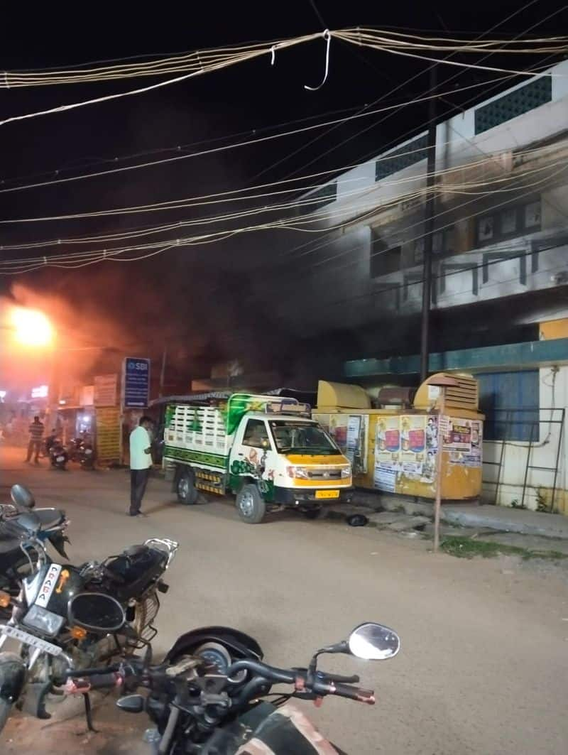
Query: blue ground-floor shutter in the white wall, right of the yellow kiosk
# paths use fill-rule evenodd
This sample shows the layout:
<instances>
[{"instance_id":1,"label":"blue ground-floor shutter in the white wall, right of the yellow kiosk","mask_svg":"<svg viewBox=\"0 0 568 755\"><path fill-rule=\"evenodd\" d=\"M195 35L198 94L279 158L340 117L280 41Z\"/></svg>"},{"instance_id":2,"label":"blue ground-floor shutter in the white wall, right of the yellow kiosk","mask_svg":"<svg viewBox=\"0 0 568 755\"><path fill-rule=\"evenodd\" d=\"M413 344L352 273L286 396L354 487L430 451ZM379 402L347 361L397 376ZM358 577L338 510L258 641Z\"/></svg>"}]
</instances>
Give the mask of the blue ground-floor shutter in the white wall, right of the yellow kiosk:
<instances>
[{"instance_id":1,"label":"blue ground-floor shutter in the white wall, right of the yellow kiosk","mask_svg":"<svg viewBox=\"0 0 568 755\"><path fill-rule=\"evenodd\" d=\"M539 440L539 371L487 372L479 381L486 440ZM535 424L536 423L536 424Z\"/></svg>"}]
</instances>

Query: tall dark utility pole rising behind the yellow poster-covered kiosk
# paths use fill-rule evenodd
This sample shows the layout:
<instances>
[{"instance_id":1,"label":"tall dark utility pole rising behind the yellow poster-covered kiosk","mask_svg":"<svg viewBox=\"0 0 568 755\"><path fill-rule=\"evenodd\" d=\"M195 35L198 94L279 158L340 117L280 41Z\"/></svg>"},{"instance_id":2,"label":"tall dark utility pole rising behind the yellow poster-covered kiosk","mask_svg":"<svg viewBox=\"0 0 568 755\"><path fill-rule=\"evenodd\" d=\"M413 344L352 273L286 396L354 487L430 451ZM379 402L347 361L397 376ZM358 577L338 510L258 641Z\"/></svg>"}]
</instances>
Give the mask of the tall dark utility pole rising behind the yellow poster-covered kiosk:
<instances>
[{"instance_id":1,"label":"tall dark utility pole rising behind the yellow poster-covered kiosk","mask_svg":"<svg viewBox=\"0 0 568 755\"><path fill-rule=\"evenodd\" d=\"M438 69L430 69L430 94L438 90ZM424 214L424 266L422 268L422 328L420 331L420 383L428 377L430 357L430 303L432 291L432 242L434 240L434 216L436 202L436 97L428 104L428 167L426 168L426 203Z\"/></svg>"}]
</instances>

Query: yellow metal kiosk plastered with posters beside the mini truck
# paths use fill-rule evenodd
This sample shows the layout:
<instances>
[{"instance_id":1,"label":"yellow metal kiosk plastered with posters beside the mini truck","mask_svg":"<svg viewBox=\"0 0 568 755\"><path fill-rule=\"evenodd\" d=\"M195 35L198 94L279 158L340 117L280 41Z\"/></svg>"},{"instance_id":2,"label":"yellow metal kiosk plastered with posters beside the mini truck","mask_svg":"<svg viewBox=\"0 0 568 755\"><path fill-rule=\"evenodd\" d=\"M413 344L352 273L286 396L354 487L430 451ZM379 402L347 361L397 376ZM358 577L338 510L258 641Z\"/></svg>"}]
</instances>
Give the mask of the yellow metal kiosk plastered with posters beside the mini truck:
<instances>
[{"instance_id":1,"label":"yellow metal kiosk plastered with posters beside the mini truck","mask_svg":"<svg viewBox=\"0 0 568 755\"><path fill-rule=\"evenodd\" d=\"M445 388L440 423L441 388L432 375L412 402L395 405L395 390L385 391L381 408L356 385L319 381L314 419L325 427L353 465L353 482L361 488L434 498L436 461L442 442L441 496L467 500L481 492L484 414L479 411L477 381L452 373L456 386ZM382 399L381 393L379 398Z\"/></svg>"}]
</instances>

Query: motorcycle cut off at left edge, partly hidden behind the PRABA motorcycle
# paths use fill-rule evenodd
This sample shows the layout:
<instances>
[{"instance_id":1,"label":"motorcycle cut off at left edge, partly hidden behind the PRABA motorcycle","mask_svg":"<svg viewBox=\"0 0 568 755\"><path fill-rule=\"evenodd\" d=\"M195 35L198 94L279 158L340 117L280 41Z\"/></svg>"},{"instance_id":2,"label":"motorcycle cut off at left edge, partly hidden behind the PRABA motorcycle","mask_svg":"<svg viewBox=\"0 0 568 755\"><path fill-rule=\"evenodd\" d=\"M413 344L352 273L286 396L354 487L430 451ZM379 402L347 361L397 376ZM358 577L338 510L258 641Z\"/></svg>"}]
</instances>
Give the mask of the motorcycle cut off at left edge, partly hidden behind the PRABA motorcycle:
<instances>
[{"instance_id":1,"label":"motorcycle cut off at left edge, partly hidden behind the PRABA motorcycle","mask_svg":"<svg viewBox=\"0 0 568 755\"><path fill-rule=\"evenodd\" d=\"M35 550L22 547L23 533L35 532L44 547L50 543L66 559L65 544L69 538L65 532L69 519L61 509L35 508L32 493L23 485L14 485L11 499L12 504L0 506L0 592L16 599L23 578L32 572L37 560ZM0 620L10 616L9 606L0 600Z\"/></svg>"}]
</instances>

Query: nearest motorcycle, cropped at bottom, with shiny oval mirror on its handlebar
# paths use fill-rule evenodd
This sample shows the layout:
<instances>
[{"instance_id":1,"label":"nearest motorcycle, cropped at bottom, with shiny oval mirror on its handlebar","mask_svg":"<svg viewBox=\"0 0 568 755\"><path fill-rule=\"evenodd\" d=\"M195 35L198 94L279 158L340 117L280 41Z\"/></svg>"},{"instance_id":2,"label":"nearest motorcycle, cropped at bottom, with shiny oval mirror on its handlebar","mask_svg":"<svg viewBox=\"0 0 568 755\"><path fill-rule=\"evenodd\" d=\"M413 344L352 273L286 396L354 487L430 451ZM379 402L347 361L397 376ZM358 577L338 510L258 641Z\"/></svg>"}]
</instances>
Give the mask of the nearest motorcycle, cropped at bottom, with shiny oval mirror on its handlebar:
<instances>
[{"instance_id":1,"label":"nearest motorcycle, cropped at bottom, with shiny oval mirror on its handlebar","mask_svg":"<svg viewBox=\"0 0 568 755\"><path fill-rule=\"evenodd\" d=\"M115 687L130 692L117 705L128 713L146 711L155 724L146 732L155 755L345 755L288 701L299 698L320 705L327 695L339 695L373 705L373 691L355 686L357 675L324 672L318 669L318 658L345 653L382 661L397 655L400 646L395 631L366 622L347 640L315 652L308 667L281 669L263 662L262 649L247 634L205 627L180 636L162 664L150 665L146 653L146 658L127 664L81 674L69 670L64 691L84 695L89 728L93 722L87 701L92 690ZM290 690L270 702L263 700L275 684L286 684ZM149 694L136 694L139 687Z\"/></svg>"}]
</instances>

